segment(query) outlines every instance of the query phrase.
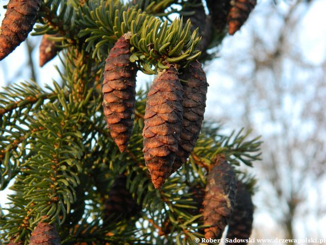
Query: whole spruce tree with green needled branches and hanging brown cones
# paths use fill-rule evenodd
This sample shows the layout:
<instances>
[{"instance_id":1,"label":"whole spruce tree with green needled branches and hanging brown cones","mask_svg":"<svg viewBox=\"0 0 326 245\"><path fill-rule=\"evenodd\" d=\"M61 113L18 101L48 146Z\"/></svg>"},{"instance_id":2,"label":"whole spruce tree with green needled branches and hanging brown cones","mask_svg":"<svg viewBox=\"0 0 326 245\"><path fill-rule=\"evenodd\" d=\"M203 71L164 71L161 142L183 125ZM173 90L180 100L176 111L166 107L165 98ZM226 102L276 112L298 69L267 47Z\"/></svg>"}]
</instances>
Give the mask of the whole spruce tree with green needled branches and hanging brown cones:
<instances>
[{"instance_id":1,"label":"whole spruce tree with green needled branches and hanging brown cones","mask_svg":"<svg viewBox=\"0 0 326 245\"><path fill-rule=\"evenodd\" d=\"M246 184L242 171L259 160L261 142L203 122L208 83L216 81L207 81L202 66L227 35L231 5L207 1L209 14L204 6L9 1L0 59L31 32L43 36L40 64L58 55L63 69L52 86L27 81L0 93L0 188L13 191L0 217L1 242L196 244L220 237L229 219L221 210L203 212L218 204L231 215L235 179ZM214 12L221 9L223 16ZM147 89L135 90L138 71L156 75Z\"/></svg>"}]
</instances>

